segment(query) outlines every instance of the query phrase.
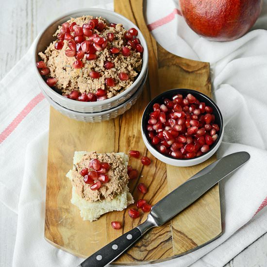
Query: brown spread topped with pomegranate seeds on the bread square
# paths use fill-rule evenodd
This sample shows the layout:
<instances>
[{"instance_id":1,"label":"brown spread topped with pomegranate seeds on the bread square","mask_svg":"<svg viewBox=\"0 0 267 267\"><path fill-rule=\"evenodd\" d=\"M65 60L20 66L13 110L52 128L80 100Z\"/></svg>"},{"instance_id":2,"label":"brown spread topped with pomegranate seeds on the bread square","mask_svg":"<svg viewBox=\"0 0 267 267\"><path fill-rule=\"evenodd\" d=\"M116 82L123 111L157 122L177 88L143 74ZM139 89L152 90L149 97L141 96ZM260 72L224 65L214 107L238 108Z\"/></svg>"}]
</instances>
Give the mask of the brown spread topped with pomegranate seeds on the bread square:
<instances>
[{"instance_id":1,"label":"brown spread topped with pomegranate seeds on the bread square","mask_svg":"<svg viewBox=\"0 0 267 267\"><path fill-rule=\"evenodd\" d=\"M84 154L71 170L72 185L83 199L113 200L128 184L127 167L116 153Z\"/></svg>"}]
</instances>

